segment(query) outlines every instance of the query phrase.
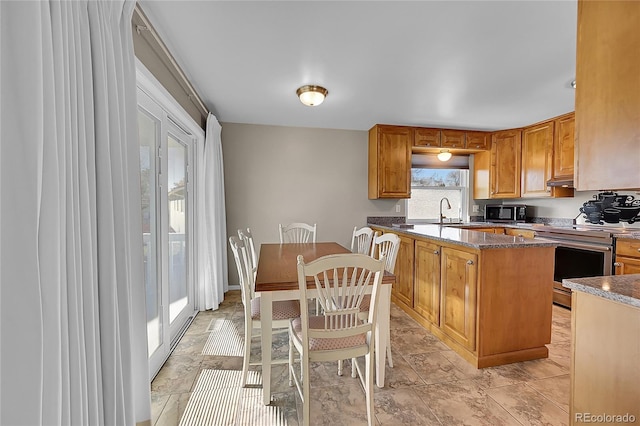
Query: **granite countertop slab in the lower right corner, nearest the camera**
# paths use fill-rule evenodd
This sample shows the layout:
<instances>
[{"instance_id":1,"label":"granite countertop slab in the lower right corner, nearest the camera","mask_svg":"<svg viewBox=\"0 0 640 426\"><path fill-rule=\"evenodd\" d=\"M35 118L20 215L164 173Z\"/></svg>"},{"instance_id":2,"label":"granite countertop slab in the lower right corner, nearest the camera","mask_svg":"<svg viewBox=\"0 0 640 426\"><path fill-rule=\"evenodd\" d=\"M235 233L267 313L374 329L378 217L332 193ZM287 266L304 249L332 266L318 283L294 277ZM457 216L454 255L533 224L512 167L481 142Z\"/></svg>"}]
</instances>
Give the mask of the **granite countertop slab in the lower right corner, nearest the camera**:
<instances>
[{"instance_id":1,"label":"granite countertop slab in the lower right corner, nearest the camera","mask_svg":"<svg viewBox=\"0 0 640 426\"><path fill-rule=\"evenodd\" d=\"M565 278L562 286L640 308L640 274Z\"/></svg>"}]
</instances>

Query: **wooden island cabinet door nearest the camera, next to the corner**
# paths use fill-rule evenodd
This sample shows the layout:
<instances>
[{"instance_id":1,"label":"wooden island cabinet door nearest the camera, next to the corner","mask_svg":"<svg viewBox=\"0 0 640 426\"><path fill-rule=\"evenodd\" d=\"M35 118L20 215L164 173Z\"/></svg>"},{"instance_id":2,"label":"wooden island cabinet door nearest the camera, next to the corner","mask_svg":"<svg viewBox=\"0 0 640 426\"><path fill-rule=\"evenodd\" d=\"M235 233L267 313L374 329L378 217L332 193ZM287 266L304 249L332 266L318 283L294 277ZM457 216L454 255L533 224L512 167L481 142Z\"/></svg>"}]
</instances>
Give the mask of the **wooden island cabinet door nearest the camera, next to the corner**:
<instances>
[{"instance_id":1,"label":"wooden island cabinet door nearest the camera, next to the corner","mask_svg":"<svg viewBox=\"0 0 640 426\"><path fill-rule=\"evenodd\" d=\"M477 255L443 248L440 327L469 350L476 347Z\"/></svg>"}]
</instances>

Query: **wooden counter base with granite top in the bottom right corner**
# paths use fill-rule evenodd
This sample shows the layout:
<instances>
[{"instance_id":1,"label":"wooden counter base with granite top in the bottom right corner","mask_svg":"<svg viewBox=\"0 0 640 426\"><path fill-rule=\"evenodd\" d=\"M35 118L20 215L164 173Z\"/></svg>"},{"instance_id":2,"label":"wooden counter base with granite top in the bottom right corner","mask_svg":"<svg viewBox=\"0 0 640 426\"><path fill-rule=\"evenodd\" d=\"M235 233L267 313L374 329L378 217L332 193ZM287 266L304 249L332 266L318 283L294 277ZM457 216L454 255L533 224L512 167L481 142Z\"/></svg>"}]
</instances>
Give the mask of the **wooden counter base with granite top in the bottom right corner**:
<instances>
[{"instance_id":1,"label":"wooden counter base with granite top in the bottom right corner","mask_svg":"<svg viewBox=\"0 0 640 426\"><path fill-rule=\"evenodd\" d=\"M640 274L562 283L572 290L571 424L640 421Z\"/></svg>"}]
</instances>

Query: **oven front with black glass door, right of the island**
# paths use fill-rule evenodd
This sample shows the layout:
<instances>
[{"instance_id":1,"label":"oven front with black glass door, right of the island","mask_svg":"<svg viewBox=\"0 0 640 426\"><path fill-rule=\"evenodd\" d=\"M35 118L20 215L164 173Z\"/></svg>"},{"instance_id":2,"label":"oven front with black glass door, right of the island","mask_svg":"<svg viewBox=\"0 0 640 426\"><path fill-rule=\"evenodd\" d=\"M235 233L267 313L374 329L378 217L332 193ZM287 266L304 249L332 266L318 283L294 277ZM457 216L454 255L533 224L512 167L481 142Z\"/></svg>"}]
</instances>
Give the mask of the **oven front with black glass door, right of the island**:
<instances>
[{"instance_id":1,"label":"oven front with black glass door, right of the island","mask_svg":"<svg viewBox=\"0 0 640 426\"><path fill-rule=\"evenodd\" d=\"M611 275L612 265L611 246L561 241L556 247L553 271L554 303L571 307L571 290L562 286L563 279Z\"/></svg>"}]
</instances>

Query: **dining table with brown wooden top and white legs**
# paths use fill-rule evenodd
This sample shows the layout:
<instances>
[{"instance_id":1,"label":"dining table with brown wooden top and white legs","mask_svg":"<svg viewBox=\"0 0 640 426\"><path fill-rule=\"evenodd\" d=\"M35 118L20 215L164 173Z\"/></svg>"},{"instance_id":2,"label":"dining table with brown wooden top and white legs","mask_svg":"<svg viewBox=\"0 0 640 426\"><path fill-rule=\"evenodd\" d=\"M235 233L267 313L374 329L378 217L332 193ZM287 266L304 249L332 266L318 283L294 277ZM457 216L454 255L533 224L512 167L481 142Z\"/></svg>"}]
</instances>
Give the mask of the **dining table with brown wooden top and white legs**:
<instances>
[{"instance_id":1,"label":"dining table with brown wooden top and white legs","mask_svg":"<svg viewBox=\"0 0 640 426\"><path fill-rule=\"evenodd\" d=\"M256 296L260 296L260 323L262 339L262 388L264 404L271 403L271 345L272 306L277 300L299 300L297 257L302 255L305 263L329 254L351 253L335 242L262 244L256 275ZM375 330L376 385L384 387L385 362L387 357L387 329L391 306L391 286L395 275L385 272L380 286L378 315ZM313 280L307 284L308 297L315 297ZM336 367L337 368L337 367Z\"/></svg>"}]
</instances>

